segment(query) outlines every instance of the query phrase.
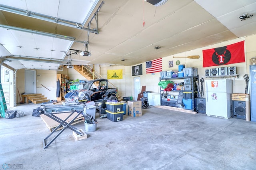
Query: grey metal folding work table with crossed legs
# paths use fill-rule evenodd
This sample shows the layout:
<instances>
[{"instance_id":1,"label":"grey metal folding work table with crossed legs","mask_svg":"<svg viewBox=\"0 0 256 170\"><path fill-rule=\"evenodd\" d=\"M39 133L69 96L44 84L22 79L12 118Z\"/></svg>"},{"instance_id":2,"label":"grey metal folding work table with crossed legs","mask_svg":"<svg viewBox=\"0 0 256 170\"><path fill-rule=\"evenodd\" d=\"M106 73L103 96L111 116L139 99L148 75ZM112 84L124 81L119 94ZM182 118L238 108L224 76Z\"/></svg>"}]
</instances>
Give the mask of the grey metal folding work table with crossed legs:
<instances>
[{"instance_id":1,"label":"grey metal folding work table with crossed legs","mask_svg":"<svg viewBox=\"0 0 256 170\"><path fill-rule=\"evenodd\" d=\"M76 132L76 134L82 136L83 134L78 130L78 128L72 126L72 122L84 111L84 105L41 105L41 108L44 109L44 115L50 117L54 121L60 123L52 132L44 139L44 148L47 148L66 128L71 129L72 131ZM70 115L65 119L62 120L57 117L55 114L61 113L70 113ZM66 121L70 118L73 114L77 114L69 123ZM49 142L47 143L47 139L60 127L63 127L62 130Z\"/></svg>"}]
</instances>

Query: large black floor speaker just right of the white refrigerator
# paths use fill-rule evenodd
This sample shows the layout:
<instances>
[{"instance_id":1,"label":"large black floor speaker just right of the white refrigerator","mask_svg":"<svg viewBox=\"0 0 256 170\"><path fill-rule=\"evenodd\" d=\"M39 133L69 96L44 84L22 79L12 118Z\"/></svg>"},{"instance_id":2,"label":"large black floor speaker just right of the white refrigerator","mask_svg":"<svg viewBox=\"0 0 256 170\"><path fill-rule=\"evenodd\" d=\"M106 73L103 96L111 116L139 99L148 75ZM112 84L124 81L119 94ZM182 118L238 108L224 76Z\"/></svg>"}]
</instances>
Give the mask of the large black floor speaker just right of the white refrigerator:
<instances>
[{"instance_id":1,"label":"large black floor speaker just right of the white refrigerator","mask_svg":"<svg viewBox=\"0 0 256 170\"><path fill-rule=\"evenodd\" d=\"M246 101L233 101L232 117L238 119L245 119L246 115Z\"/></svg>"}]
</instances>

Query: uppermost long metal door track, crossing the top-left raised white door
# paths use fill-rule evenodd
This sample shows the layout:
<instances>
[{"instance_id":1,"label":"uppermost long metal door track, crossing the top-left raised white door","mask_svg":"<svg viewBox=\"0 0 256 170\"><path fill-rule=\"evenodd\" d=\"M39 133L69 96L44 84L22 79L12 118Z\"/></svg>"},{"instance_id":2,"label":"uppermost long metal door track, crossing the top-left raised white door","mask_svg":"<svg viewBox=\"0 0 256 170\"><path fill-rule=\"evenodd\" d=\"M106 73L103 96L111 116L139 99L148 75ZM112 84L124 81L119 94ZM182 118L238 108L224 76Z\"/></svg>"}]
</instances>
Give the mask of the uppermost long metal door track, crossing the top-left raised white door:
<instances>
[{"instance_id":1,"label":"uppermost long metal door track, crossing the top-left raised white door","mask_svg":"<svg viewBox=\"0 0 256 170\"><path fill-rule=\"evenodd\" d=\"M48 15L44 15L44 14L39 14L37 12L22 10L20 8L14 8L12 6L7 6L7 5L3 5L3 4L0 4L0 10L6 11L6 12L11 12L11 13L14 13L14 14L23 15L23 16L30 16L32 18L36 18L36 19L39 19L39 20L58 23L58 24L62 24L64 26L68 26L68 27L72 27L72 28L78 28L78 29L81 29L81 30L86 30L86 31L89 31L89 32L93 32L95 34L99 34L98 30L91 30L91 29L88 29L88 28L83 28L83 25L81 23L77 23L77 22L73 22L73 21L69 21L69 20L64 20L64 19L61 19L61 18L56 18L54 16L48 16ZM97 24L98 24L98 22L97 22Z\"/></svg>"}]
</instances>

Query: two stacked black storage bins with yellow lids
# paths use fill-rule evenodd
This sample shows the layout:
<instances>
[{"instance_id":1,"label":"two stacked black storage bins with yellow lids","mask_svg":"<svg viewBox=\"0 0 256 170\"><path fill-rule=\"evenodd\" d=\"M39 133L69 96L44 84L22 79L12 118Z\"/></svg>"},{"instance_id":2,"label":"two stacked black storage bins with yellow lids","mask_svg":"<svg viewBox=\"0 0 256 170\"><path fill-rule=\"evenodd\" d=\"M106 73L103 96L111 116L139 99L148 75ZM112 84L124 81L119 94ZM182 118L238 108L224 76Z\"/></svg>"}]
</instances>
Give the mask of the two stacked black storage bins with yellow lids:
<instances>
[{"instance_id":1,"label":"two stacked black storage bins with yellow lids","mask_svg":"<svg viewBox=\"0 0 256 170\"><path fill-rule=\"evenodd\" d=\"M107 117L112 122L122 121L123 120L123 103L118 103L118 101L107 101Z\"/></svg>"}]
</instances>

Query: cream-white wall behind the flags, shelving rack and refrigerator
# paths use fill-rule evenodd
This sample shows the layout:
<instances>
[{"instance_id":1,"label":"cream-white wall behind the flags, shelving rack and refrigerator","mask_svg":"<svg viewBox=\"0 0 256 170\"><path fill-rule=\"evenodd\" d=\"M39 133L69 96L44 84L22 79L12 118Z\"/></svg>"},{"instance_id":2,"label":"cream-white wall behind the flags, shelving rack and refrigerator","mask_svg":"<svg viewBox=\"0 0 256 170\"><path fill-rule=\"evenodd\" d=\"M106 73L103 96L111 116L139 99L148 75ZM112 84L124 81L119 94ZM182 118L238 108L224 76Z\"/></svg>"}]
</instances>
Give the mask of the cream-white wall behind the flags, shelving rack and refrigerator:
<instances>
[{"instance_id":1,"label":"cream-white wall behind the flags, shelving rack and refrigerator","mask_svg":"<svg viewBox=\"0 0 256 170\"><path fill-rule=\"evenodd\" d=\"M176 61L180 60L180 64L185 64L186 68L188 67L196 67L198 68L198 75L199 79L201 77L204 77L204 80L207 80L209 78L205 77L205 69L211 69L211 68L217 68L217 66L214 67L202 67L203 65L203 55L202 55L202 50L204 49L211 49L215 47L222 47L225 45L230 45L232 43L236 42L241 42L245 40L245 63L234 63L230 65L225 65L225 67L230 67L230 66L236 66L237 67L237 74L239 77L227 77L227 79L232 79L233 81L233 93L244 93L245 92L245 86L246 83L244 81L243 76L245 74L249 75L249 60L252 57L256 56L256 35L253 36L248 36L245 38L238 38L235 40L230 40L222 43L216 43L214 45L209 45L206 47L194 49L191 51L186 51L183 53L177 53L175 55L170 55L167 57L162 57L162 70L163 71L168 71L168 70L178 70L178 65L176 65ZM189 56L189 55L200 55L199 59L189 59L189 58L173 58L173 56ZM173 61L174 67L169 68L169 61ZM139 65L141 63L138 63L136 65ZM220 67L220 66L219 66ZM122 80L111 80L117 87L119 87L119 92L120 94L125 97L125 96L133 96L134 98L134 77L131 76L131 66L125 66L125 67L101 67L101 73L106 75L106 71L108 69L120 69L124 68L124 78ZM160 93L159 92L159 77L160 73L148 73L146 74L146 63L142 63L142 69L143 73L140 75L140 80L141 80L141 85L146 86L146 91L153 91L155 93ZM174 83L180 83L180 80L175 80ZM205 89L205 88L204 88ZM204 92L205 94L205 92Z\"/></svg>"}]
</instances>

